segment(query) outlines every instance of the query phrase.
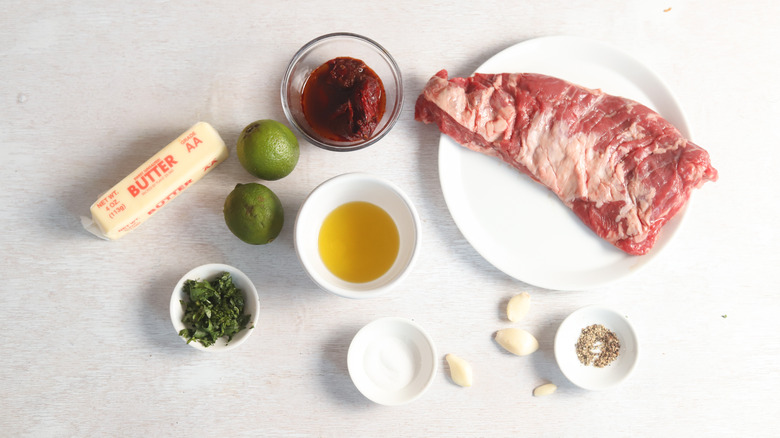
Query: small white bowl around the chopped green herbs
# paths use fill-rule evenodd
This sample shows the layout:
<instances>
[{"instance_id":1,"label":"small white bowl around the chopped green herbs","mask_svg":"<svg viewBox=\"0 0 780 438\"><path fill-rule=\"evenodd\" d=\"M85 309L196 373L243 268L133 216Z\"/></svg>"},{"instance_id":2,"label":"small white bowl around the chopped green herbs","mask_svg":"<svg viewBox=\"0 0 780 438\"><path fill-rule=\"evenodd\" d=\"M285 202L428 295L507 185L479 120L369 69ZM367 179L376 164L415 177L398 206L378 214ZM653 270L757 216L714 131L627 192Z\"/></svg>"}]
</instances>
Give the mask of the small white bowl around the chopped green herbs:
<instances>
[{"instance_id":1,"label":"small white bowl around the chopped green herbs","mask_svg":"<svg viewBox=\"0 0 780 438\"><path fill-rule=\"evenodd\" d=\"M223 272L230 273L230 276L233 278L233 284L235 284L236 287L239 288L244 294L244 313L252 315L252 318L249 323L247 323L247 326L244 330L241 330L233 336L233 339L229 344L227 343L226 337L217 339L217 341L209 347L204 347L200 342L194 339L188 344L191 347L201 351L222 352L232 350L244 343L244 341L249 338L249 335L251 335L255 330L252 327L257 327L260 300L258 298L257 289L255 288L255 285L252 284L252 280L250 280L246 274L239 271L237 268L219 263L210 263L207 265L198 266L197 268L184 274L181 280L176 283L176 287L173 288L173 294L171 294L170 310L171 322L173 323L173 328L176 330L176 335L178 335L181 330L187 328L184 323L181 322L181 319L184 316L184 308L181 304L181 300L184 300L185 302L189 300L189 297L184 293L183 290L184 282L187 280L211 281L217 278L217 276ZM184 342L187 342L185 338L181 336L179 336L179 338Z\"/></svg>"}]
</instances>

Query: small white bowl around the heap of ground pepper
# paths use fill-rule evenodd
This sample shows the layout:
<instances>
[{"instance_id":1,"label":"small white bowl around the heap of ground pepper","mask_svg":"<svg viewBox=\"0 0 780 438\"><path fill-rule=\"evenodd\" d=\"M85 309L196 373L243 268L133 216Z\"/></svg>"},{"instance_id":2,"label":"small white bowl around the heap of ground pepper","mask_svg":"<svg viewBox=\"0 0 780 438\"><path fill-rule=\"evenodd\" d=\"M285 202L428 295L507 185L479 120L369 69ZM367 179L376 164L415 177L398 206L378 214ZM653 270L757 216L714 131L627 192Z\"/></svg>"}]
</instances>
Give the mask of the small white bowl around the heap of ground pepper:
<instances>
[{"instance_id":1,"label":"small white bowl around the heap of ground pepper","mask_svg":"<svg viewBox=\"0 0 780 438\"><path fill-rule=\"evenodd\" d=\"M583 365L577 358L575 345L582 329L601 324L617 336L620 352L617 359L603 368ZM561 372L580 388L602 390L617 385L634 371L639 358L639 343L628 318L615 310L587 306L563 320L555 333L555 360Z\"/></svg>"}]
</instances>

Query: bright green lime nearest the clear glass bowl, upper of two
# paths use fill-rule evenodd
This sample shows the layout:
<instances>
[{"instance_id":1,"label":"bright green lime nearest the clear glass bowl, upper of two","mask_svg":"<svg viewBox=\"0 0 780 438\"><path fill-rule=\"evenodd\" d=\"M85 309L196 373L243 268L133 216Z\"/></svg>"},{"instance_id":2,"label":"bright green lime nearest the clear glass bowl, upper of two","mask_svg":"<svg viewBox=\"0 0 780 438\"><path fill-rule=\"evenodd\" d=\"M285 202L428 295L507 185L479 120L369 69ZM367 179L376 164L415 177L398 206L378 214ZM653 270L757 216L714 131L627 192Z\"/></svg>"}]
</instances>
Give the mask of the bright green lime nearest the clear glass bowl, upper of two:
<instances>
[{"instance_id":1,"label":"bright green lime nearest the clear glass bowl, upper of two","mask_svg":"<svg viewBox=\"0 0 780 438\"><path fill-rule=\"evenodd\" d=\"M241 131L236 144L238 161L252 175L266 181L284 178L298 164L298 139L275 120L258 120Z\"/></svg>"}]
</instances>

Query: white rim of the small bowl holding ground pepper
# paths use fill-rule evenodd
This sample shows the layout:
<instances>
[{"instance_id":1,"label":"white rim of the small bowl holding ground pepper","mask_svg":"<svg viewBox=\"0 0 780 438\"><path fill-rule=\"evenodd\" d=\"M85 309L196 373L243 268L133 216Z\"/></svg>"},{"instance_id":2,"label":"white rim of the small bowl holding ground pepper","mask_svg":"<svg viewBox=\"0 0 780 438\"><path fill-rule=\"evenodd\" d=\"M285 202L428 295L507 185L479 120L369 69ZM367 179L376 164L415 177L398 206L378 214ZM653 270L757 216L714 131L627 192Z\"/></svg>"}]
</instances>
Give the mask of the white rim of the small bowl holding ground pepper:
<instances>
[{"instance_id":1,"label":"white rim of the small bowl holding ground pepper","mask_svg":"<svg viewBox=\"0 0 780 438\"><path fill-rule=\"evenodd\" d=\"M630 339L633 343L631 350L629 350L627 355L622 356L623 360L627 360L627 363L622 364L620 367L612 367L612 365L608 365L604 368L594 368L594 367L588 367L587 371L593 371L594 373L612 373L616 376L612 378L607 383L597 383L594 381L594 379L590 378L586 373L586 375L582 375L582 373L577 373L575 370L572 369L571 363L573 361L571 360L565 360L563 358L563 355L569 355L574 354L573 353L573 345L576 343L576 338L572 339L571 337L567 336L571 332L570 327L572 324L575 323L578 319L581 319L582 317L586 315L592 315L592 318L589 318L588 321L591 321L591 323L599 323L598 320L604 320L607 318L614 318L616 320L619 320L620 323L623 325L623 330L619 330L615 327L610 327L610 330L613 330L616 332L616 335L618 335L620 338L623 339L623 342L625 342L626 339ZM579 330L582 327L577 326L576 332L579 333ZM621 348L623 345L621 345ZM571 349L569 353L565 352L564 349ZM610 307L601 306L601 305L588 305L584 307L580 307L579 309L575 310L574 312L570 313L564 320L561 322L561 324L558 326L558 329L556 330L554 341L553 341L553 354L555 356L555 362L558 364L558 368L561 370L561 373L574 385L591 390L591 391L599 391L599 390L605 390L612 387L615 387L625 381L626 379L633 374L634 370L636 369L637 363L639 362L639 338L636 333L636 329L634 328L633 324L629 321L628 316L625 316L624 313L618 312L615 309L612 309ZM577 366L583 366L579 362L576 364ZM592 368L592 369L590 369ZM620 374L617 374L620 373Z\"/></svg>"}]
</instances>

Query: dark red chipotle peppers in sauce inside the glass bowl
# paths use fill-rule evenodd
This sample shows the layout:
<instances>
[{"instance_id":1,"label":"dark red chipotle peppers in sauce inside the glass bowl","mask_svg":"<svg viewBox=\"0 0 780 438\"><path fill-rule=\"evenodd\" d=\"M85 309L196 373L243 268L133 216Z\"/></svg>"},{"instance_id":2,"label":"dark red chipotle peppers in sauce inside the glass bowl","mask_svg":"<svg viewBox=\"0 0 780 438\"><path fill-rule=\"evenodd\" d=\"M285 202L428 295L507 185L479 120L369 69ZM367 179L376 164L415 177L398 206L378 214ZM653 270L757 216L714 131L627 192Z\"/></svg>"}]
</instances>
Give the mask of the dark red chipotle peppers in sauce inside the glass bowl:
<instances>
[{"instance_id":1,"label":"dark red chipotle peppers in sauce inside the glass bowl","mask_svg":"<svg viewBox=\"0 0 780 438\"><path fill-rule=\"evenodd\" d=\"M385 112L385 89L363 61L339 57L312 72L301 104L306 121L322 137L367 140Z\"/></svg>"}]
</instances>

